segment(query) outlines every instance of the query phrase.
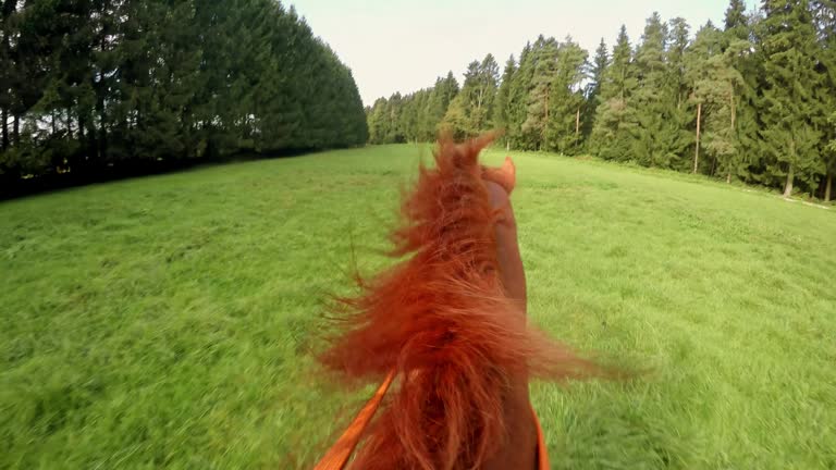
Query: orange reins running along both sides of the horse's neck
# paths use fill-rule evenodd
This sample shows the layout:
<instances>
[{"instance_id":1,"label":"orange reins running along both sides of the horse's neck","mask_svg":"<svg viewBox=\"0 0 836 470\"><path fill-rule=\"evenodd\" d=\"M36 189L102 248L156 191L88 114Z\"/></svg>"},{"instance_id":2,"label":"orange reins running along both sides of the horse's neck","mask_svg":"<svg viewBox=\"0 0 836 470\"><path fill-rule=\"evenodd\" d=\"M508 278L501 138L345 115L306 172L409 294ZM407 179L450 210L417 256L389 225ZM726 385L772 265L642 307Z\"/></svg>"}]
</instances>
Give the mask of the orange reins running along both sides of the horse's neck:
<instances>
[{"instance_id":1,"label":"orange reins running along both sides of the horse's neck","mask_svg":"<svg viewBox=\"0 0 836 470\"><path fill-rule=\"evenodd\" d=\"M374 413L380 408L380 404L383 401L383 396L389 392L389 387L395 379L395 371L391 371L389 375L380 384L374 395L366 403L357 417L348 424L348 428L343 432L343 435L331 446L325 453L322 459L314 467L314 470L343 470L348 465L348 459L352 457L354 449L360 442L362 432L366 431ZM543 429L540 426L540 420L537 419L537 412L534 408L531 408L531 415L534 418L534 424L537 425L537 470L549 470L549 454L545 448L545 438L543 437Z\"/></svg>"}]
</instances>

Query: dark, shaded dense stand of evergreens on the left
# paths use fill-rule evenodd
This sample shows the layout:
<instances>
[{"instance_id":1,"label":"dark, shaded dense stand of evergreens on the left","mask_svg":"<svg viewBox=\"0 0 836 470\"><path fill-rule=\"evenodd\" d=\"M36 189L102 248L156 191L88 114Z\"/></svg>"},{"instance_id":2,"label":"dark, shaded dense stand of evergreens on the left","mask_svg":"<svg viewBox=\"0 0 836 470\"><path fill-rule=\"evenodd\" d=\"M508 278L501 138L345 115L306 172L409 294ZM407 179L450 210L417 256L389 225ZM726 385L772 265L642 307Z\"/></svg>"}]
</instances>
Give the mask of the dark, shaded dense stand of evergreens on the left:
<instances>
[{"instance_id":1,"label":"dark, shaded dense stand of evergreens on the left","mask_svg":"<svg viewBox=\"0 0 836 470\"><path fill-rule=\"evenodd\" d=\"M0 9L0 183L368 138L351 71L275 0Z\"/></svg>"}]
</instances>

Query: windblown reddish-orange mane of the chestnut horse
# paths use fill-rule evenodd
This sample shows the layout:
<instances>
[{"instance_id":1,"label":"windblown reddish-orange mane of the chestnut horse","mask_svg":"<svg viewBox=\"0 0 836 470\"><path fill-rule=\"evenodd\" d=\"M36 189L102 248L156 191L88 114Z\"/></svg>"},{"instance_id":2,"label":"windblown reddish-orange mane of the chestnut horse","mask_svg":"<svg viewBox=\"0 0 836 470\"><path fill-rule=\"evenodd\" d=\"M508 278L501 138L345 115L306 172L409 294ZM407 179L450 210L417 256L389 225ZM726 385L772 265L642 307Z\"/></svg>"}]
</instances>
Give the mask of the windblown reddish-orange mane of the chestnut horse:
<instances>
[{"instance_id":1,"label":"windblown reddish-orange mane of the chestnut horse","mask_svg":"<svg viewBox=\"0 0 836 470\"><path fill-rule=\"evenodd\" d=\"M494 239L500 214L485 186L513 181L479 164L491 138L442 139L421 164L392 233L395 258L360 294L339 299L339 334L320 357L347 379L395 371L398 385L367 431L358 469L480 468L505 438L513 378L566 380L595 366L526 326L502 285ZM525 380L525 379L524 379Z\"/></svg>"}]
</instances>

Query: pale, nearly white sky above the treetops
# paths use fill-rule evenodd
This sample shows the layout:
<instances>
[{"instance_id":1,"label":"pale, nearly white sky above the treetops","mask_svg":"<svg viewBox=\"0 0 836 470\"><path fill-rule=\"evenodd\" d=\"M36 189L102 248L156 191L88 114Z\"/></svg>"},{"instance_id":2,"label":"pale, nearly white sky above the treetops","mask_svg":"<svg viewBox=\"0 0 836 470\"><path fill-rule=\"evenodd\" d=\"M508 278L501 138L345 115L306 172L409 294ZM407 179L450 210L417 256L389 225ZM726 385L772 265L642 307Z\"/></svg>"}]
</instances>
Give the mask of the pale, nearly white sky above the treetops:
<instances>
[{"instance_id":1,"label":"pale, nearly white sky above the treetops","mask_svg":"<svg viewBox=\"0 0 836 470\"><path fill-rule=\"evenodd\" d=\"M594 53L603 37L612 51L622 24L630 44L654 11L683 16L691 34L711 20L722 25L728 0L288 0L352 69L366 104L432 86L493 53L500 69L537 36L571 35ZM757 0L747 0L753 8Z\"/></svg>"}]
</instances>

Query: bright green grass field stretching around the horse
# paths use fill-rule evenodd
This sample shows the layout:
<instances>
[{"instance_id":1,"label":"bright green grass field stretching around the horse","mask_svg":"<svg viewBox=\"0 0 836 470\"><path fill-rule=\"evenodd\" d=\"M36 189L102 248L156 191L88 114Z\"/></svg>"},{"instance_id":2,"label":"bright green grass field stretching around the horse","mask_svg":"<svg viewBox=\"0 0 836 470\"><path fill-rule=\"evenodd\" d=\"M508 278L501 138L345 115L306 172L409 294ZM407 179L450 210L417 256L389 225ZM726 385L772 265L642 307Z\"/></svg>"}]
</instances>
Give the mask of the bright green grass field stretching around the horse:
<instances>
[{"instance_id":1,"label":"bright green grass field stretching around the horse","mask_svg":"<svg viewBox=\"0 0 836 470\"><path fill-rule=\"evenodd\" d=\"M429 148L0 202L0 468L310 468L368 391L310 357ZM504 152L489 152L500 162ZM836 210L515 154L530 321L651 372L534 384L555 469L836 469Z\"/></svg>"}]
</instances>

